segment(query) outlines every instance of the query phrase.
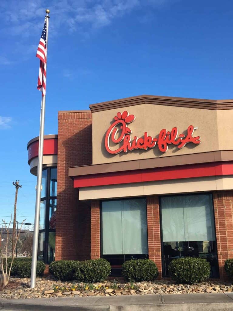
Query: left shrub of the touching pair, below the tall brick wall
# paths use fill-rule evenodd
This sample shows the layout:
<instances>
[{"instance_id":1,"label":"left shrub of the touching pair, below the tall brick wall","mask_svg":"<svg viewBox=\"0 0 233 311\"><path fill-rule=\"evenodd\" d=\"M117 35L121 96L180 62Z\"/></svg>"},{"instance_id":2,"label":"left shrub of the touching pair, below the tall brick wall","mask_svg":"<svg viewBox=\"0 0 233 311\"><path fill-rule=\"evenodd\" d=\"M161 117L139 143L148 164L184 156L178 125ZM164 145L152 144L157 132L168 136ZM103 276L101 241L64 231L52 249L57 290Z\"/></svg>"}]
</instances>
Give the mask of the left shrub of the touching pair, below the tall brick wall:
<instances>
[{"instance_id":1,"label":"left shrub of the touching pair, below the tall brick wall","mask_svg":"<svg viewBox=\"0 0 233 311\"><path fill-rule=\"evenodd\" d=\"M75 267L78 270L80 265L79 261L74 260L58 260L53 261L49 265L49 271L58 280L61 281L73 281L75 279Z\"/></svg>"}]
</instances>

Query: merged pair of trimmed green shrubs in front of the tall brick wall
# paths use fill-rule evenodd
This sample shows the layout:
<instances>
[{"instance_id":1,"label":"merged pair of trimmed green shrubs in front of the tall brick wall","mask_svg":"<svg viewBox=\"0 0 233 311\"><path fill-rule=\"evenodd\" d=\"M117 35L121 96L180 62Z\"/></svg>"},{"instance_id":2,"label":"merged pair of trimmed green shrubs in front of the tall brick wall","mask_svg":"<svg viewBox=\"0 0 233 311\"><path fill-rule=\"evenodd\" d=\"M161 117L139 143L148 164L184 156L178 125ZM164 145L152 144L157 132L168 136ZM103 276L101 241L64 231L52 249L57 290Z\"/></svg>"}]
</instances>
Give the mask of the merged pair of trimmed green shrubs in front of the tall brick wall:
<instances>
[{"instance_id":1,"label":"merged pair of trimmed green shrubs in front of the tall brick wall","mask_svg":"<svg viewBox=\"0 0 233 311\"><path fill-rule=\"evenodd\" d=\"M102 258L86 261L59 260L50 263L49 271L61 281L99 282L107 278L111 265Z\"/></svg>"}]
</instances>

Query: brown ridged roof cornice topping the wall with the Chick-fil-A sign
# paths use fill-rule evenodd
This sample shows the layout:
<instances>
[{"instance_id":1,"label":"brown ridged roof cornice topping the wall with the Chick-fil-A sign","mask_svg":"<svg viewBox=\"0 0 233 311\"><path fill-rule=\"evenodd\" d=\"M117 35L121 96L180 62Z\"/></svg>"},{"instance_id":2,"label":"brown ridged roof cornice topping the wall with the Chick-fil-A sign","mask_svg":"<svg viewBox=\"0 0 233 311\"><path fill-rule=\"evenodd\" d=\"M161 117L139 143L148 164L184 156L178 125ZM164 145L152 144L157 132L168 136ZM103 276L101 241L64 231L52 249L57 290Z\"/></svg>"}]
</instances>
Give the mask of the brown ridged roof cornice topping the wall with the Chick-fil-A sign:
<instances>
[{"instance_id":1,"label":"brown ridged roof cornice topping the wall with the Chick-fil-A sign","mask_svg":"<svg viewBox=\"0 0 233 311\"><path fill-rule=\"evenodd\" d=\"M118 100L105 101L89 105L91 112L129 107L141 104L156 104L164 106L188 107L197 109L225 110L233 109L233 100L209 100L185 97L169 97L154 95L139 95Z\"/></svg>"}]
</instances>

